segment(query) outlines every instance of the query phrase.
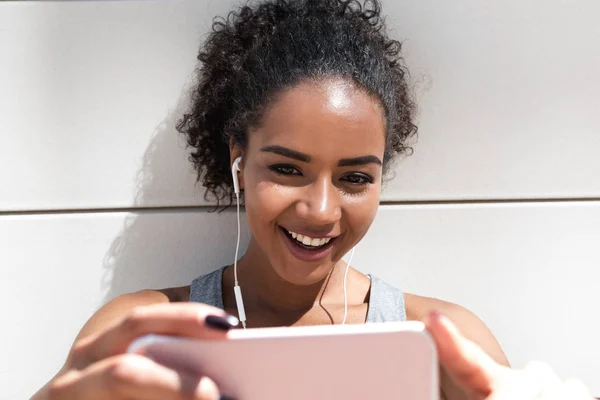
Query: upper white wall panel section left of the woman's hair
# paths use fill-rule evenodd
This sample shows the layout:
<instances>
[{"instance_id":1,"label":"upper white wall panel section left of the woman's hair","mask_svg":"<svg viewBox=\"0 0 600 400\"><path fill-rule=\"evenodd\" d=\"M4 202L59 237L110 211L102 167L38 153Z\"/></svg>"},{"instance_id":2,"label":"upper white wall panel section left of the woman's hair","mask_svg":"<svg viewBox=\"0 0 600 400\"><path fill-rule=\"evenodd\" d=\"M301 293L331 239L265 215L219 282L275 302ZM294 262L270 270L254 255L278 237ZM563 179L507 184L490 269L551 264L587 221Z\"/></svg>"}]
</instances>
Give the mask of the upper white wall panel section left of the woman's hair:
<instances>
[{"instance_id":1,"label":"upper white wall panel section left of the woman's hair","mask_svg":"<svg viewBox=\"0 0 600 400\"><path fill-rule=\"evenodd\" d=\"M200 202L175 124L226 3L0 4L0 210Z\"/></svg>"}]
</instances>

